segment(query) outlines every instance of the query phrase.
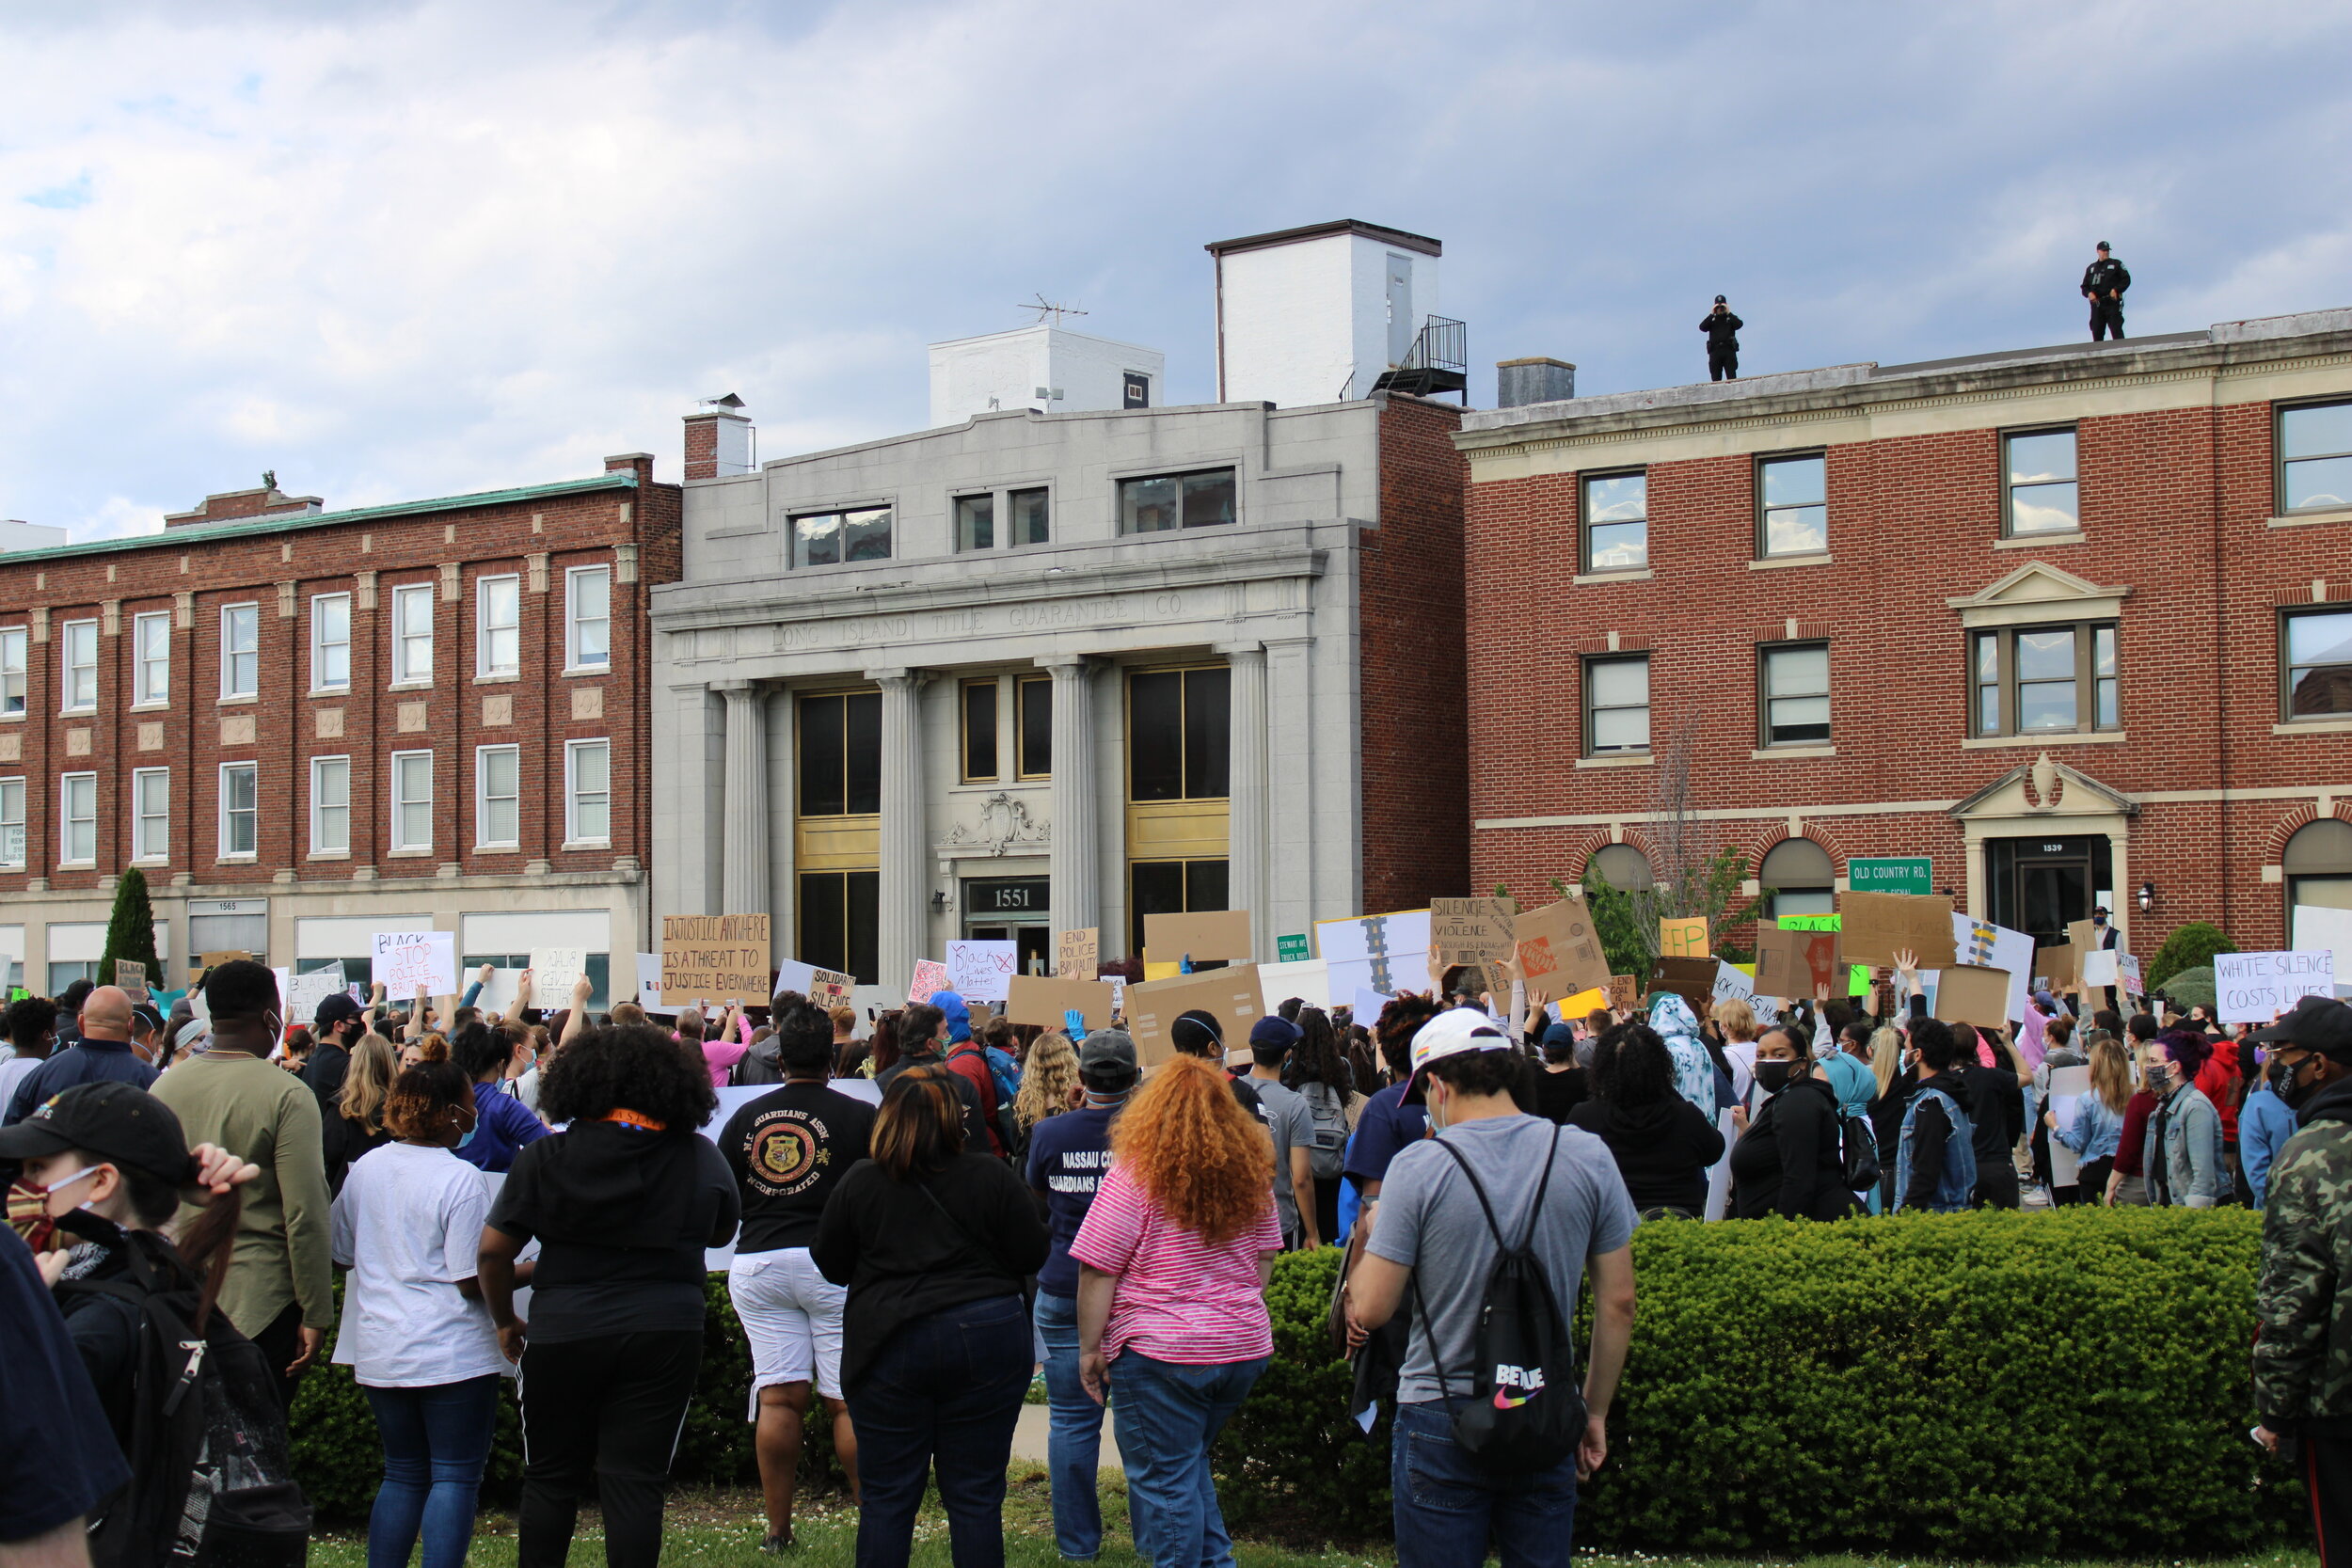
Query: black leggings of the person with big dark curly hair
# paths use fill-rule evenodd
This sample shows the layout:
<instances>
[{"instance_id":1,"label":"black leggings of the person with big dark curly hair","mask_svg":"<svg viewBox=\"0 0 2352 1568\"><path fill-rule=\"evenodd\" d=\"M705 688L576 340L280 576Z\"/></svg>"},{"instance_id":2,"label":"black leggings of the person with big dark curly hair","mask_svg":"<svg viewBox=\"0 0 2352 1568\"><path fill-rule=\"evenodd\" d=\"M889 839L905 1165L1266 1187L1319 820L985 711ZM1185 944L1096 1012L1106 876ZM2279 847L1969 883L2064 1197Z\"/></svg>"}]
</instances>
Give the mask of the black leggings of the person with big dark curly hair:
<instances>
[{"instance_id":1,"label":"black leggings of the person with big dark curly hair","mask_svg":"<svg viewBox=\"0 0 2352 1568\"><path fill-rule=\"evenodd\" d=\"M515 1563L562 1568L595 1474L604 1561L661 1559L661 1486L703 1366L699 1331L607 1333L522 1349L522 1509Z\"/></svg>"}]
</instances>

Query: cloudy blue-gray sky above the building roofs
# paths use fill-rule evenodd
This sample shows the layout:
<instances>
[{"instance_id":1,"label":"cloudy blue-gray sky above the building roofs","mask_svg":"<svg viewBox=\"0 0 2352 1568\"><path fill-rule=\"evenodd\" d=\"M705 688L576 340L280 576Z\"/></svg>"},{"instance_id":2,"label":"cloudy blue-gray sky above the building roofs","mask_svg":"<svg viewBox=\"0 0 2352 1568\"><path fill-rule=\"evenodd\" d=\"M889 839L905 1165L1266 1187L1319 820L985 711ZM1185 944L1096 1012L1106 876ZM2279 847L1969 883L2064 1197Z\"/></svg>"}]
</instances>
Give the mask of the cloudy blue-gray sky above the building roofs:
<instances>
[{"instance_id":1,"label":"cloudy blue-gray sky above the building roofs","mask_svg":"<svg viewBox=\"0 0 2352 1568\"><path fill-rule=\"evenodd\" d=\"M64 19L68 16L71 19ZM195 16L195 21L191 21ZM1211 395L1207 240L1444 240L1470 357L1585 393L2352 306L2340 5L0 2L0 517L263 468L595 473L739 390L920 428L922 346L1075 322Z\"/></svg>"}]
</instances>

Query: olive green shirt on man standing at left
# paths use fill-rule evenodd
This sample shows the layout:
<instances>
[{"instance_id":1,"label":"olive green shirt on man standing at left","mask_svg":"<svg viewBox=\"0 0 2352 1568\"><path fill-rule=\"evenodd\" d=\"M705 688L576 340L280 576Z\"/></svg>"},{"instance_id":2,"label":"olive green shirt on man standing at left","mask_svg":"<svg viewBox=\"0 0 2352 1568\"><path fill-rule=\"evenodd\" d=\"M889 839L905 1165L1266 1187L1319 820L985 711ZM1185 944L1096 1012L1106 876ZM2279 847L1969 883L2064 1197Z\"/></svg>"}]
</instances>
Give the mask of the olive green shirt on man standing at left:
<instances>
[{"instance_id":1,"label":"olive green shirt on man standing at left","mask_svg":"<svg viewBox=\"0 0 2352 1568\"><path fill-rule=\"evenodd\" d=\"M188 1145L216 1143L261 1166L240 1194L238 1241L221 1309L256 1335L289 1305L306 1328L334 1326L332 1199L318 1143L318 1095L275 1063L242 1053L191 1056L153 1088L172 1107ZM186 1227L193 1208L181 1208Z\"/></svg>"}]
</instances>

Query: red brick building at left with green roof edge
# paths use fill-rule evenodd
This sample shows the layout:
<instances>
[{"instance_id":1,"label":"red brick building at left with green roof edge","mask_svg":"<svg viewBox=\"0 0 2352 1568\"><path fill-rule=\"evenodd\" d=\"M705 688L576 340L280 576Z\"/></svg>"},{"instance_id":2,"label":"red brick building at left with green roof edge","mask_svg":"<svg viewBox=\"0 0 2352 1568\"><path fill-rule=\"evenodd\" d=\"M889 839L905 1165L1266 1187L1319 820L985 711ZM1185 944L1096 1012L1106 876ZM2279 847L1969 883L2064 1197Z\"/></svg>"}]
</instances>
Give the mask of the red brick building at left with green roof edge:
<instances>
[{"instance_id":1,"label":"red brick building at left with green roof edge","mask_svg":"<svg viewBox=\"0 0 2352 1568\"><path fill-rule=\"evenodd\" d=\"M367 973L647 945L644 592L677 487L588 480L327 512L275 484L162 534L0 555L0 954L92 971L141 867L174 983L200 952ZM602 985L600 985L602 990Z\"/></svg>"}]
</instances>

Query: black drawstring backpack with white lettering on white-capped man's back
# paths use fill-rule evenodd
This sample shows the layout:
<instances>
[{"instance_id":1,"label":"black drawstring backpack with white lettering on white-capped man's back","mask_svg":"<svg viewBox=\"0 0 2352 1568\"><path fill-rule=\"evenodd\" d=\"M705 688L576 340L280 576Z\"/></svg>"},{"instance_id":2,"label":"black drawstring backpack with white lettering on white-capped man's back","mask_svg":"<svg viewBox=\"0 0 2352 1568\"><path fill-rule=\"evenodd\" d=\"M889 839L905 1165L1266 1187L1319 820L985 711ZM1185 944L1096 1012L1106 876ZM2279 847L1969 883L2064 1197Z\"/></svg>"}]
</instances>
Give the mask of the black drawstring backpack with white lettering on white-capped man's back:
<instances>
[{"instance_id":1,"label":"black drawstring backpack with white lettering on white-capped man's back","mask_svg":"<svg viewBox=\"0 0 2352 1568\"><path fill-rule=\"evenodd\" d=\"M1534 1251L1543 1194L1550 1190L1552 1166L1559 1161L1562 1131L1552 1128L1552 1150L1543 1161L1543 1178L1536 1182L1536 1201L1526 1211L1526 1232L1519 1237L1519 1246L1503 1241L1494 1204L1486 1201L1486 1185L1463 1152L1444 1138L1432 1140L1470 1178L1470 1192L1477 1194L1477 1206L1486 1213L1486 1232L1501 1248L1486 1274L1486 1300L1479 1302L1470 1401L1456 1406L1451 1392L1444 1396L1454 1418L1454 1443L1498 1476L1552 1469L1576 1453L1576 1443L1585 1434L1585 1392L1576 1380L1576 1342L1569 1338L1569 1316L1559 1309L1552 1281ZM1437 1361L1437 1328L1430 1324L1428 1302L1421 1300L1421 1269L1414 1269L1414 1307L1430 1333L1430 1359ZM1437 1361L1437 1382L1446 1387L1442 1361Z\"/></svg>"}]
</instances>

